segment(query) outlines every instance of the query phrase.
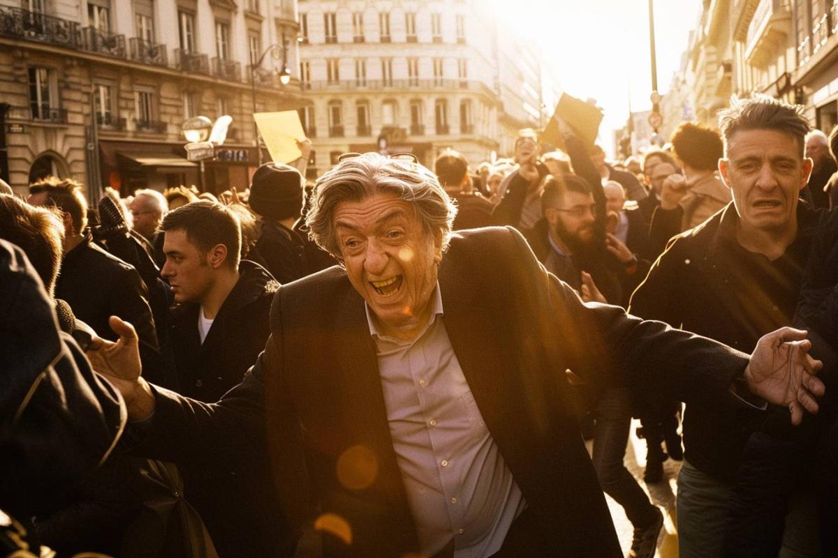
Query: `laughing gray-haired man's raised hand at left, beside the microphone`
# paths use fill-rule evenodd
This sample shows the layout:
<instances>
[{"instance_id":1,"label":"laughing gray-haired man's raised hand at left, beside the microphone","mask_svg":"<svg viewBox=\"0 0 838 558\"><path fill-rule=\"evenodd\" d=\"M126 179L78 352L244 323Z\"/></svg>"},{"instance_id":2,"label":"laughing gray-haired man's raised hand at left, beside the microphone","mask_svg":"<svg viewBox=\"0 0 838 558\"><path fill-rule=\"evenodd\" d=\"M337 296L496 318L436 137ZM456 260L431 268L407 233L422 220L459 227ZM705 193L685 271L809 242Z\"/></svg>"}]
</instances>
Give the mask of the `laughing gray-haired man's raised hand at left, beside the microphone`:
<instances>
[{"instance_id":1,"label":"laughing gray-haired man's raised hand at left, beside the microphone","mask_svg":"<svg viewBox=\"0 0 838 558\"><path fill-rule=\"evenodd\" d=\"M122 394L128 408L128 418L140 421L154 412L154 395L148 382L142 379L137 331L127 321L116 316L108 320L111 330L119 335L115 342L95 337L86 354L93 369L105 376Z\"/></svg>"}]
</instances>

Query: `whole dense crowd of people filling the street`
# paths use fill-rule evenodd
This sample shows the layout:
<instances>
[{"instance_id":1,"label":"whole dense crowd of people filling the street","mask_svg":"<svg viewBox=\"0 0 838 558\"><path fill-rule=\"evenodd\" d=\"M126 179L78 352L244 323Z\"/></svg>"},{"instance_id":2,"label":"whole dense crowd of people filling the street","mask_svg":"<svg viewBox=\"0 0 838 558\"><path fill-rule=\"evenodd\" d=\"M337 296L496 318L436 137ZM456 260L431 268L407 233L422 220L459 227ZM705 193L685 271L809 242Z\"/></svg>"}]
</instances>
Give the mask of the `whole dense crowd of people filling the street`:
<instances>
[{"instance_id":1,"label":"whole dense crowd of people filling the street","mask_svg":"<svg viewBox=\"0 0 838 558\"><path fill-rule=\"evenodd\" d=\"M758 95L623 162L558 127L0 192L0 547L620 556L604 492L651 558L637 417L679 555L838 555L838 131Z\"/></svg>"}]
</instances>

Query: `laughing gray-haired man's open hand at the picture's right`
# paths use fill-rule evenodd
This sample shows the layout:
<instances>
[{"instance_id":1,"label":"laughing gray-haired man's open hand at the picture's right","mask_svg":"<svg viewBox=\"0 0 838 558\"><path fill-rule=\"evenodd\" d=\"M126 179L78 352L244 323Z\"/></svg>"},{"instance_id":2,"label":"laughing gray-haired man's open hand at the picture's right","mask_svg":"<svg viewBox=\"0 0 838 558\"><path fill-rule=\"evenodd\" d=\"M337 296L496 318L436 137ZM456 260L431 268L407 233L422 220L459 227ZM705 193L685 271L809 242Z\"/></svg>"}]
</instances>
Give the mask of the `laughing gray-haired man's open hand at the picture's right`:
<instances>
[{"instance_id":1,"label":"laughing gray-haired man's open hand at the picture's right","mask_svg":"<svg viewBox=\"0 0 838 558\"><path fill-rule=\"evenodd\" d=\"M815 377L823 365L809 356L811 348L804 330L772 331L758 341L743 376L754 395L789 407L793 424L803 420L804 410L818 412L815 397L825 392L824 382Z\"/></svg>"}]
</instances>

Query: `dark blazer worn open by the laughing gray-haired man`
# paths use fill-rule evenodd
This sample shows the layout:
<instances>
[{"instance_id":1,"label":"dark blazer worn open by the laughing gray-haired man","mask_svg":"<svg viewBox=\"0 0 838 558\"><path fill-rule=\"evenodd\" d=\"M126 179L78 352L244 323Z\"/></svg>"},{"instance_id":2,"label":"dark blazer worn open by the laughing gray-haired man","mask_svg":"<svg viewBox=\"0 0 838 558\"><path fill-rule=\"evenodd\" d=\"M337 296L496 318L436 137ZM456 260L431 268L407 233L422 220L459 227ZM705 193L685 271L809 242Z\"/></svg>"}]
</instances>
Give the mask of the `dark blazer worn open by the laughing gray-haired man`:
<instances>
[{"instance_id":1,"label":"dark blazer worn open by the laughing gray-haired man","mask_svg":"<svg viewBox=\"0 0 838 558\"><path fill-rule=\"evenodd\" d=\"M468 386L538 518L537 544L550 549L537 555L621 556L566 371L595 389L629 385L720 405L747 357L615 306L582 305L509 227L454 233L439 285ZM282 286L271 329L256 366L220 402L156 390L139 451L174 460L235 458L236 443L260 443L267 433L289 519L301 519L314 500L351 530L350 545L324 537L324 556L417 552L364 300L344 270Z\"/></svg>"}]
</instances>

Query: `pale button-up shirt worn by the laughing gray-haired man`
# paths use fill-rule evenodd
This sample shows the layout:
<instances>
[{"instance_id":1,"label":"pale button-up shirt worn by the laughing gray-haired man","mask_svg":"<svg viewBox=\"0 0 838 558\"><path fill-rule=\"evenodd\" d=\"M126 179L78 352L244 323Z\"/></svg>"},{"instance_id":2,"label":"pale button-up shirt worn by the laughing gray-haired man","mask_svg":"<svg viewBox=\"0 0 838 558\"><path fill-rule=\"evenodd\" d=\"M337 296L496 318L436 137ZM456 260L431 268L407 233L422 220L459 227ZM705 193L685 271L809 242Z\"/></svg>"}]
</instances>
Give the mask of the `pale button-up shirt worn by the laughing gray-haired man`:
<instances>
[{"instance_id":1,"label":"pale button-up shirt worn by the laughing gray-haired man","mask_svg":"<svg viewBox=\"0 0 838 558\"><path fill-rule=\"evenodd\" d=\"M484 423L442 319L439 284L427 325L414 340L375 340L393 448L422 553L454 539L455 558L500 550L526 503Z\"/></svg>"}]
</instances>

